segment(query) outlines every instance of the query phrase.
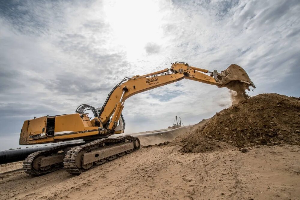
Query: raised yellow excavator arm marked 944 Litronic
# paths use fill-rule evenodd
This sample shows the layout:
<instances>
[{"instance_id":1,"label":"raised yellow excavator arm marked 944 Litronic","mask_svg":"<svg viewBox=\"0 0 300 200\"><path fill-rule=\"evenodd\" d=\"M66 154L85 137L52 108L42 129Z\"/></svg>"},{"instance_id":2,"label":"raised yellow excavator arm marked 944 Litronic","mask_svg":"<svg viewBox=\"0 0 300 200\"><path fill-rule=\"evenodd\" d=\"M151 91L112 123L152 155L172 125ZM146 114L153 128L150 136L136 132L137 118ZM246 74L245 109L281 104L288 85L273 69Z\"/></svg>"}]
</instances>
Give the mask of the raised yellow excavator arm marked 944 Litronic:
<instances>
[{"instance_id":1,"label":"raised yellow excavator arm marked 944 Litronic","mask_svg":"<svg viewBox=\"0 0 300 200\"><path fill-rule=\"evenodd\" d=\"M107 100L104 103L104 106L98 113L98 118L101 120L102 124L106 124L110 120L106 128L113 133L113 130L116 127L119 117L122 113L122 109L124 108L124 102L127 98L140 92L174 83L182 80L183 78L216 85L219 87L227 87L229 82L232 81L237 81L235 85L238 83L243 84L245 88L248 88L250 85L255 87L247 73L241 67L236 66L238 65L231 65L226 69L227 71L222 71L220 74L216 70L211 72L207 69L190 66L187 63L175 62L172 63L170 69L167 68L151 74L125 78L110 92ZM235 71L232 70L234 67L236 68ZM228 69L231 69L231 71ZM227 78L226 81L222 81L223 77L231 76L232 73L236 74L238 71L242 71L243 73L239 74L237 77ZM203 72L210 74L204 74Z\"/></svg>"}]
</instances>

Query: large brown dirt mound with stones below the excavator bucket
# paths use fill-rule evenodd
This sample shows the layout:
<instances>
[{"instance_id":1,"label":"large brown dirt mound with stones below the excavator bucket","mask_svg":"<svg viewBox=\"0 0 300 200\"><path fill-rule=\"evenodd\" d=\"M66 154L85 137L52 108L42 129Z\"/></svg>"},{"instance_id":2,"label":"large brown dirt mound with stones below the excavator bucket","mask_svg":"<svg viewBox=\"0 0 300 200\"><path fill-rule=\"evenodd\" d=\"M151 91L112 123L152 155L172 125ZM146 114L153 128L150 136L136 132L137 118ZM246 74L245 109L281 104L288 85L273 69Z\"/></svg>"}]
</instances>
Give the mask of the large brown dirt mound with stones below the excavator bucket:
<instances>
[{"instance_id":1,"label":"large brown dirt mound with stones below the excavator bucket","mask_svg":"<svg viewBox=\"0 0 300 200\"><path fill-rule=\"evenodd\" d=\"M181 142L183 152L209 151L224 142L236 147L300 145L300 98L260 94L243 99L184 134Z\"/></svg>"}]
</instances>

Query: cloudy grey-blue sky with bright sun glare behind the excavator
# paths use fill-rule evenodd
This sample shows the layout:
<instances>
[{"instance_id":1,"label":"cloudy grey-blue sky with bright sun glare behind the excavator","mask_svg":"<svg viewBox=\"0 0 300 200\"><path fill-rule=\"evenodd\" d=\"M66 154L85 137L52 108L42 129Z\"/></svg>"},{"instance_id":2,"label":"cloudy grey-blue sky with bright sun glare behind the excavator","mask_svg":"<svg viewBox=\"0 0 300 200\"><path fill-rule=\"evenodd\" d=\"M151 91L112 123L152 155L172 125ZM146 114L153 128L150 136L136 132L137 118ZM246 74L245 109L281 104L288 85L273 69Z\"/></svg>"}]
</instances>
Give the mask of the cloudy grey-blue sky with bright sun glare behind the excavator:
<instances>
[{"instance_id":1,"label":"cloudy grey-blue sky with bright sun glare behind the excavator","mask_svg":"<svg viewBox=\"0 0 300 200\"><path fill-rule=\"evenodd\" d=\"M23 121L103 105L123 77L183 61L235 63L253 95L300 95L298 0L1 1L0 150L19 147ZM252 92L251 92L252 95ZM126 133L194 124L229 107L229 91L191 80L125 102Z\"/></svg>"}]
</instances>

